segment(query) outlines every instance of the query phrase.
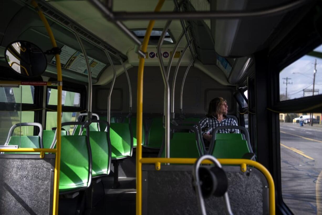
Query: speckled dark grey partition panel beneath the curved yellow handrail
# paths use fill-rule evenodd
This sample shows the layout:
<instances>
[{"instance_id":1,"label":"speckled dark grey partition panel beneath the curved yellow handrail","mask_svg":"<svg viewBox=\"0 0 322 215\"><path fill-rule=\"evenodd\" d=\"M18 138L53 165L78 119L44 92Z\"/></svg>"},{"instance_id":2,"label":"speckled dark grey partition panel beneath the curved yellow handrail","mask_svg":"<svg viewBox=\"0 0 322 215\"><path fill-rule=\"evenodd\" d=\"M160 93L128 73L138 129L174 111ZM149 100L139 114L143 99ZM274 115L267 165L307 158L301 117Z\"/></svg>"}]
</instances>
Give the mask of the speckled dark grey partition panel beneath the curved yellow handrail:
<instances>
[{"instance_id":1,"label":"speckled dark grey partition panel beneath the curved yellow handrail","mask_svg":"<svg viewBox=\"0 0 322 215\"><path fill-rule=\"evenodd\" d=\"M192 187L192 165L143 165L142 214L201 214ZM268 214L268 184L257 169L242 173L240 167L225 166L228 195L233 214ZM153 188L153 189L151 189ZM205 199L207 214L224 214L223 197Z\"/></svg>"}]
</instances>

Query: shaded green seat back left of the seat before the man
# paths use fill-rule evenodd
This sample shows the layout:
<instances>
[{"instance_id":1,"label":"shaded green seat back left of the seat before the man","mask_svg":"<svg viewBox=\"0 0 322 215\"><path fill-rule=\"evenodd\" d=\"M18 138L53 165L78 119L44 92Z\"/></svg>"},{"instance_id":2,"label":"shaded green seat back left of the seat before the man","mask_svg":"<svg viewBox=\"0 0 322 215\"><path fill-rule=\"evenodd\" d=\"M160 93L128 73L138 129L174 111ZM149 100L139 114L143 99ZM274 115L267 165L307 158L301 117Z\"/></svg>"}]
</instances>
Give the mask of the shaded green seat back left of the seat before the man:
<instances>
[{"instance_id":1,"label":"shaded green seat back left of the seat before the man","mask_svg":"<svg viewBox=\"0 0 322 215\"><path fill-rule=\"evenodd\" d=\"M197 141L194 133L174 133L170 139L170 158L199 158ZM161 152L161 158L165 157L165 150Z\"/></svg>"}]
</instances>

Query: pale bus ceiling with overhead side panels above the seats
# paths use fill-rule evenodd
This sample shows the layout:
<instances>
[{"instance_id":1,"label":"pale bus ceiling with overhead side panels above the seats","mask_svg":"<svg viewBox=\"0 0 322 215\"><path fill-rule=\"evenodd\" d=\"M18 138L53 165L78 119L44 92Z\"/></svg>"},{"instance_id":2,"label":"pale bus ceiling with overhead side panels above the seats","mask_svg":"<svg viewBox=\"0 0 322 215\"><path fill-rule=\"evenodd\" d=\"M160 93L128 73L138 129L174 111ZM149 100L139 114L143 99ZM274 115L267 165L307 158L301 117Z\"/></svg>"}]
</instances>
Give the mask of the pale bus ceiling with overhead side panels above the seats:
<instances>
[{"instance_id":1,"label":"pale bus ceiling with overhead side panels above the seats","mask_svg":"<svg viewBox=\"0 0 322 215\"><path fill-rule=\"evenodd\" d=\"M125 4L126 3L126 4ZM143 4L144 3L144 4ZM9 26L6 29L0 29L4 32L5 36L1 40L1 46L6 46L7 43L13 41L13 39L26 40L37 44L44 51L48 50L49 45L43 41L46 41L45 29L40 23L37 15L30 13L30 8L24 7L23 1L6 1L8 8L12 9L13 18L6 19L10 20L6 23ZM223 4L222 1L185 1L182 5L182 10L186 13L196 12L210 12L210 11L264 11L269 8L275 8L278 11L277 14L270 14L270 16L263 16L246 19L194 19L186 20L186 26L190 38L194 38L194 50L197 54L197 60L194 63L202 68L201 70L208 74L210 77L219 81L225 85L234 85L238 83L243 77L247 70L253 65L253 59L251 55L263 48L272 47L278 44L279 34L281 31L288 32L292 26L285 26L283 24L283 19L285 13L295 16L295 14L300 14L298 17L294 17L292 20L292 25L295 25L300 19L301 14L306 10L301 10L299 13L299 6L303 6L301 1L296 1L290 3L290 1L285 0L283 2L274 0L265 2L261 5L256 4L252 1L228 1L227 4ZM292 5L293 4L293 5ZM74 1L50 1L41 2L41 9L44 13L52 18L54 22L51 22L54 34L57 35L57 42L61 48L68 48L69 50L80 51L80 47L73 35L73 31L77 31L82 37L84 47L88 56L95 59L101 66L105 66L104 69L97 72L93 76L93 83L106 83L109 82L109 62L105 57L104 49L109 49L111 52L119 55L123 61L128 61L126 67L137 66L138 56L134 50L133 41L128 38L124 32L113 24L110 20L106 19L104 15L98 13L97 8L90 4L88 1L78 1L75 4ZM142 5L144 5L142 7ZM137 4L137 2L121 0L113 1L113 13L118 13L118 11L126 10L128 14L133 12L141 12L144 14L146 11L152 11L154 8L154 2L142 1L142 4ZM281 10L282 6L284 9ZM161 12L172 13L175 4L173 1L166 1ZM308 7L308 6L307 6ZM20 10L18 9L20 8ZM306 7L305 7L306 8ZM308 7L309 8L309 7ZM301 7L302 9L302 7ZM307 9L307 8L306 8ZM269 11L268 9L266 12ZM304 11L304 12L302 12ZM123 13L126 15L126 13ZM11 14L11 13L10 13ZM209 13L208 13L209 14ZM237 13L238 14L238 13ZM244 13L245 14L245 13ZM28 17L26 19L25 17ZM124 24L132 30L144 29L147 26L147 20L134 20L124 21ZM163 29L166 20L157 20L155 29ZM10 27L10 26L15 26ZM16 28L16 26L21 26L21 28ZM164 44L162 46L162 52L166 56L171 54L172 48L177 42L177 38L182 33L182 26L180 20L173 20L169 26L169 34L171 44ZM86 39L85 39L86 38ZM173 39L172 39L173 38ZM108 41L107 44L105 41ZM270 44L269 44L270 42ZM187 40L184 38L178 45L178 54L183 50ZM152 46L152 47L151 47ZM148 47L148 54L151 53L150 58L146 61L146 66L158 66L158 60L156 55L156 47L150 45ZM183 57L181 66L188 66L192 59L192 53L189 51ZM122 72L122 66L118 61L118 58L111 56L115 64L116 70L120 67L120 72ZM47 61L52 62L52 56L47 56ZM173 66L176 65L178 57L174 59ZM212 67L212 71L207 71L206 68ZM54 68L54 65L52 65ZM215 68L215 69L213 69ZM219 69L218 69L219 68ZM221 70L222 72L218 71ZM218 71L218 72L217 72ZM47 74L55 73L49 66L47 68ZM75 72L75 71L74 71ZM65 77L73 77L79 81L86 81L86 74L76 74L66 68L63 71ZM117 72L118 74L118 72ZM111 75L111 74L110 74ZM221 77L223 75L223 78Z\"/></svg>"}]
</instances>

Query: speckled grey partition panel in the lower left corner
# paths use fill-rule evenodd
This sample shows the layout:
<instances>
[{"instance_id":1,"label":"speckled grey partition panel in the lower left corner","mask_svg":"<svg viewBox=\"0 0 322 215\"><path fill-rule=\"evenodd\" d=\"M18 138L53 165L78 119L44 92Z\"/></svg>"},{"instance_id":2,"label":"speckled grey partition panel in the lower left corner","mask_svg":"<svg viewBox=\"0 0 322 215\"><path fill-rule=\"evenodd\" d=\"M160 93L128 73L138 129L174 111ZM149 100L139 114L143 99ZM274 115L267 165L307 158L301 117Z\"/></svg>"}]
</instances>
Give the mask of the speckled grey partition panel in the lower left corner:
<instances>
[{"instance_id":1,"label":"speckled grey partition panel in the lower left corner","mask_svg":"<svg viewBox=\"0 0 322 215\"><path fill-rule=\"evenodd\" d=\"M0 213L50 214L54 159L0 158ZM34 156L35 157L35 156ZM36 157L39 158L39 155ZM51 164L52 163L52 164Z\"/></svg>"}]
</instances>

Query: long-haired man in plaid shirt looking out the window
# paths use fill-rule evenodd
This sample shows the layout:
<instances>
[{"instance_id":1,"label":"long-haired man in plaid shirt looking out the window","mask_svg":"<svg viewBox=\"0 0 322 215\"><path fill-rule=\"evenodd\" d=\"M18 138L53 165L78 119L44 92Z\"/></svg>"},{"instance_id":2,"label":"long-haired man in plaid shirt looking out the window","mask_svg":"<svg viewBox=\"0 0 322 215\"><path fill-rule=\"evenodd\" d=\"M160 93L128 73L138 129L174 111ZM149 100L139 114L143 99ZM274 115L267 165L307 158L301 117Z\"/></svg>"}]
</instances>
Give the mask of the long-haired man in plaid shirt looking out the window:
<instances>
[{"instance_id":1,"label":"long-haired man in plaid shirt looking out the window","mask_svg":"<svg viewBox=\"0 0 322 215\"><path fill-rule=\"evenodd\" d=\"M227 101L222 97L214 98L209 103L208 114L205 118L199 121L203 138L211 141L213 137L212 132L214 128L218 126L237 126L235 119L227 117L228 105ZM218 133L239 133L238 129L220 129Z\"/></svg>"}]
</instances>

